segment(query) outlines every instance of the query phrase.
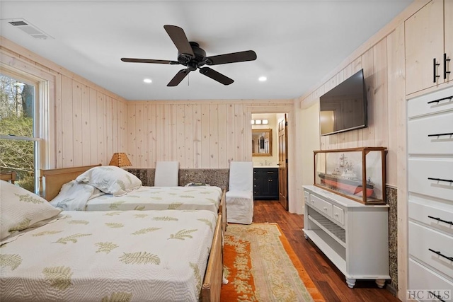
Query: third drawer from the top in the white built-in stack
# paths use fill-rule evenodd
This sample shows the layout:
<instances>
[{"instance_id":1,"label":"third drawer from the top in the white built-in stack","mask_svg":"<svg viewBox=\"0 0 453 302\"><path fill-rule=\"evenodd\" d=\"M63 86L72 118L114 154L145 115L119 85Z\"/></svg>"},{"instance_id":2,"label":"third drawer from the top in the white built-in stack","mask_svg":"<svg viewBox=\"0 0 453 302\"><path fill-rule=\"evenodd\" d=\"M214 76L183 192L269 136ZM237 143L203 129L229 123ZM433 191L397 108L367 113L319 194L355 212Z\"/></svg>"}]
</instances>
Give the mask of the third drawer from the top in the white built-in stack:
<instances>
[{"instance_id":1,"label":"third drawer from the top in the white built-in stack","mask_svg":"<svg viewBox=\"0 0 453 302\"><path fill-rule=\"evenodd\" d=\"M448 180L453 180L453 158L409 158L408 189L410 192L453 201L453 182Z\"/></svg>"}]
</instances>

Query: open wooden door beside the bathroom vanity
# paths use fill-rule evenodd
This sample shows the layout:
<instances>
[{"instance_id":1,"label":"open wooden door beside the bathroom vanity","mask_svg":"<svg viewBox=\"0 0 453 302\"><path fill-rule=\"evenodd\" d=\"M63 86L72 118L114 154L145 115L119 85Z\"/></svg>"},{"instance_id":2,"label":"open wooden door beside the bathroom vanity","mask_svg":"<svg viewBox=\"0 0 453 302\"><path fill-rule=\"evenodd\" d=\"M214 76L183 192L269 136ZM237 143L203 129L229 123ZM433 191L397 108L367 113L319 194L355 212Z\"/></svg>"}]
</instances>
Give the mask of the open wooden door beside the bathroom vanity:
<instances>
[{"instance_id":1,"label":"open wooden door beside the bathroom vanity","mask_svg":"<svg viewBox=\"0 0 453 302\"><path fill-rule=\"evenodd\" d=\"M288 154L287 120L278 122L278 200L288 209Z\"/></svg>"}]
</instances>

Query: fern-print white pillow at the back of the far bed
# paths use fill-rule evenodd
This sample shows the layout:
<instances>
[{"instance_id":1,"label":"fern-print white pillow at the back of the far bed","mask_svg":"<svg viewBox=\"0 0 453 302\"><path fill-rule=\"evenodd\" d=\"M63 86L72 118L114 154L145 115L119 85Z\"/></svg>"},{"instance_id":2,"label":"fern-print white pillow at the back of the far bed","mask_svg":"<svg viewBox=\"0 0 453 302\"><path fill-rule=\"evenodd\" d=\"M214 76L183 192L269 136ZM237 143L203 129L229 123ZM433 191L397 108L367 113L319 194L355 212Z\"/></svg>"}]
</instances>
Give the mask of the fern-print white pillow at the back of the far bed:
<instances>
[{"instance_id":1,"label":"fern-print white pillow at the back of the far bed","mask_svg":"<svg viewBox=\"0 0 453 302\"><path fill-rule=\"evenodd\" d=\"M85 182L113 196L121 196L142 187L142 180L116 165L91 168L79 175L76 181Z\"/></svg>"}]
</instances>

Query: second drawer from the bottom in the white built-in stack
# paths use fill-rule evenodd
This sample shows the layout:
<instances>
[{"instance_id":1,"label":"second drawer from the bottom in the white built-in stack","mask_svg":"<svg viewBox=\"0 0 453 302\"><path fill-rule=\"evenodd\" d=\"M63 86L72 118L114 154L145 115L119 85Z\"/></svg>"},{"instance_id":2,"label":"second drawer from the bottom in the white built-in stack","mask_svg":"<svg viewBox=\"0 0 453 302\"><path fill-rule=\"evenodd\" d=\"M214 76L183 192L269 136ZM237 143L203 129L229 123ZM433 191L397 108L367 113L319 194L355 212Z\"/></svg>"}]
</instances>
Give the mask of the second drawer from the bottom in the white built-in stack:
<instances>
[{"instance_id":1,"label":"second drawer from the bottom in the white built-in stack","mask_svg":"<svg viewBox=\"0 0 453 302\"><path fill-rule=\"evenodd\" d=\"M437 255L439 252L442 255ZM409 221L409 255L453 278L453 237Z\"/></svg>"}]
</instances>

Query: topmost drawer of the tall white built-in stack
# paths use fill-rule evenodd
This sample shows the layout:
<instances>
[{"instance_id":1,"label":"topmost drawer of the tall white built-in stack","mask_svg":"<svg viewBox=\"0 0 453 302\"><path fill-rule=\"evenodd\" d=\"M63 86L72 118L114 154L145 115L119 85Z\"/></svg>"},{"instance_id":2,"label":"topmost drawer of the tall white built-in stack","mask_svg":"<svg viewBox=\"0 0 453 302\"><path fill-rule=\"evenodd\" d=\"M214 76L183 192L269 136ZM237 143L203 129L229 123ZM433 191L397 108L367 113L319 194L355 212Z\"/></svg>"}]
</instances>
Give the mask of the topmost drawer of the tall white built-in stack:
<instances>
[{"instance_id":1,"label":"topmost drawer of the tall white built-in stack","mask_svg":"<svg viewBox=\"0 0 453 302\"><path fill-rule=\"evenodd\" d=\"M452 95L453 88L448 88L408 100L408 117L411 118L445 110L453 110L453 98L440 100L441 98L448 98ZM433 102L434 100L440 101Z\"/></svg>"}]
</instances>

